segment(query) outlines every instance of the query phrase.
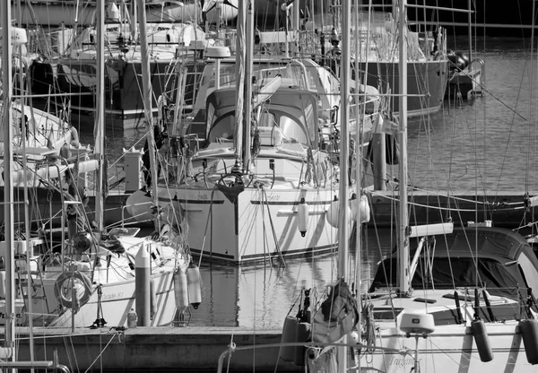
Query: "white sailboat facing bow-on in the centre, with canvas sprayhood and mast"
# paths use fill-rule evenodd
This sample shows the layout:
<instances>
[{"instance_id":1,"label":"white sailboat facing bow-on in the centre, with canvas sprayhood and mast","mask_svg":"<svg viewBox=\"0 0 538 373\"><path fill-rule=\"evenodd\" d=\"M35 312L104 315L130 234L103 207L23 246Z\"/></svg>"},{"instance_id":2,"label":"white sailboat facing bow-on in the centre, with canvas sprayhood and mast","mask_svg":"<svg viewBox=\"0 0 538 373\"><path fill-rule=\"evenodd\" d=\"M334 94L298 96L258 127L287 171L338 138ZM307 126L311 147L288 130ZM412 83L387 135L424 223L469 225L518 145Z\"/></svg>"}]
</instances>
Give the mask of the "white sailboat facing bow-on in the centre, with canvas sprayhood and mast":
<instances>
[{"instance_id":1,"label":"white sailboat facing bow-on in the centre, with canvas sprayhood and mast","mask_svg":"<svg viewBox=\"0 0 538 373\"><path fill-rule=\"evenodd\" d=\"M203 79L198 97L206 102L204 126L194 121L187 133L167 126L169 158L162 163L159 204L180 205L188 225L196 227L188 234L190 250L203 260L285 264L288 257L334 252L336 206L351 204L347 197L339 201L338 189L342 182L351 187L348 177L340 179L337 164L338 143L347 140L337 108L326 110L336 84L324 87L334 82L332 75L312 61L258 61L252 8L239 10L239 25L247 11L247 42L239 27L235 65L216 70L214 86ZM233 74L233 84L221 83L218 74L224 82ZM361 105L357 101L355 109ZM366 120L365 142L375 118ZM362 152L362 143L355 151ZM149 213L143 204L152 198L148 189L127 200L132 216Z\"/></svg>"}]
</instances>

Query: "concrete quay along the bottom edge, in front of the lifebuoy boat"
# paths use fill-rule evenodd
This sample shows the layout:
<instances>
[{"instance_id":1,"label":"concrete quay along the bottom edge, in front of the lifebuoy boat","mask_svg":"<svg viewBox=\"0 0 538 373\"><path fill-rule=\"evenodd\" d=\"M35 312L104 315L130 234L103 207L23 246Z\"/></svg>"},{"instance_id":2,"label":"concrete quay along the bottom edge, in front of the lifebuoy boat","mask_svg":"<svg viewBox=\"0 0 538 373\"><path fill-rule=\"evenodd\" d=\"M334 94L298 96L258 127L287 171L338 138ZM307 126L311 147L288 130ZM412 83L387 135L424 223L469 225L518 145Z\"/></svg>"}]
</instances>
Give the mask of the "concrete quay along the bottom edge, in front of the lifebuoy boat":
<instances>
[{"instance_id":1,"label":"concrete quay along the bottom edge, in front of the lifebuoy boat","mask_svg":"<svg viewBox=\"0 0 538 373\"><path fill-rule=\"evenodd\" d=\"M17 360L30 360L30 329L17 328ZM52 360L71 371L183 371L216 372L219 357L230 342L236 347L281 342L282 330L243 327L158 326L117 330L82 328L32 329L34 360ZM299 372L304 368L279 359L279 348L235 351L223 361L223 371ZM276 370L275 370L276 369Z\"/></svg>"}]
</instances>

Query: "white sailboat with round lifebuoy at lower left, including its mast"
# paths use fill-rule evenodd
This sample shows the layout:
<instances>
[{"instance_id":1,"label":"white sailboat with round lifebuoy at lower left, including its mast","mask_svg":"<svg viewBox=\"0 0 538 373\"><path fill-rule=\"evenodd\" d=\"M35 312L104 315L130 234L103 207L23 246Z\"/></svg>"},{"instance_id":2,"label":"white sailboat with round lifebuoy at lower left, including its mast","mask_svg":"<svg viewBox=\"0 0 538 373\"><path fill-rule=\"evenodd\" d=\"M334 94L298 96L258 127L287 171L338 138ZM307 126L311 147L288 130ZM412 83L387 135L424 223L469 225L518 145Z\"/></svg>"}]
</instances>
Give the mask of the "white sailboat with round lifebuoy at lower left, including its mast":
<instances>
[{"instance_id":1,"label":"white sailboat with round lifebuoy at lower left, including its mast","mask_svg":"<svg viewBox=\"0 0 538 373\"><path fill-rule=\"evenodd\" d=\"M100 10L102 27L104 12ZM101 37L99 44L103 48ZM147 49L143 49L147 53ZM144 71L145 76L147 73ZM103 74L100 77L104 79ZM105 121L103 91L99 92L96 152L99 169L102 169L106 164L102 155ZM101 187L102 172L98 174L98 180ZM4 263L9 255L18 258L14 262L18 273L13 282L13 290L16 290L14 322L73 329L90 325L126 325L127 316L133 309L138 316L138 325L170 325L177 311L173 299L174 274L178 271L186 274L190 263L184 236L171 228L165 219L156 226L152 236L138 237L138 229L106 231L102 227L102 201L96 206L97 222L92 225L85 215L87 205L78 195L76 178L72 178L72 182L75 184L74 195L66 198L64 205L65 210L74 211L76 224L67 219L69 238L62 240L59 247L48 247L40 238L18 240L10 246L5 242L0 245ZM102 189L98 195L102 197ZM65 228L64 223L62 228ZM8 269L0 270L0 276L5 277ZM6 290L3 288L2 291ZM11 314L7 307L8 300L0 300L2 323L7 322L6 313Z\"/></svg>"}]
</instances>

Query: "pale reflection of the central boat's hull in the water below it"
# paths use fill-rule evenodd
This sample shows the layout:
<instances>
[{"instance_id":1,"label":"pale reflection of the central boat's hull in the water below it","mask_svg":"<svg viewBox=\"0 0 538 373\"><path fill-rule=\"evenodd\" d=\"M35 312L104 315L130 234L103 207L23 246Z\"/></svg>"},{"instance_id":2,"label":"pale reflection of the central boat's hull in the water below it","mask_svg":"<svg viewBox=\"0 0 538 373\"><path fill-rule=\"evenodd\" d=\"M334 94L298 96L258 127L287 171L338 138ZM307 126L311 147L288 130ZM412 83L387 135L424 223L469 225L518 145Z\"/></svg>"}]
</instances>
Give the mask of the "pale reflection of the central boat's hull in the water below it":
<instances>
[{"instance_id":1,"label":"pale reflection of the central boat's hull in the water below it","mask_svg":"<svg viewBox=\"0 0 538 373\"><path fill-rule=\"evenodd\" d=\"M382 254L389 251L390 243L381 241L378 249L377 235L368 238L369 252L363 253L361 270L364 278L373 276L373 270ZM380 239L389 237L379 234ZM209 255L209 254L208 254ZM267 262L269 263L269 262ZM350 264L354 267L355 252L351 252ZM241 326L260 329L281 329L284 318L297 300L291 314L298 312L301 288L312 289L318 298L325 286L332 284L336 276L336 254L311 256L287 260L286 266L274 261L273 266L210 265L208 261L200 267L202 276L202 304L198 309L191 307L189 325ZM369 286L362 284L366 291ZM301 300L302 302L302 300ZM186 315L188 319L188 315Z\"/></svg>"}]
</instances>

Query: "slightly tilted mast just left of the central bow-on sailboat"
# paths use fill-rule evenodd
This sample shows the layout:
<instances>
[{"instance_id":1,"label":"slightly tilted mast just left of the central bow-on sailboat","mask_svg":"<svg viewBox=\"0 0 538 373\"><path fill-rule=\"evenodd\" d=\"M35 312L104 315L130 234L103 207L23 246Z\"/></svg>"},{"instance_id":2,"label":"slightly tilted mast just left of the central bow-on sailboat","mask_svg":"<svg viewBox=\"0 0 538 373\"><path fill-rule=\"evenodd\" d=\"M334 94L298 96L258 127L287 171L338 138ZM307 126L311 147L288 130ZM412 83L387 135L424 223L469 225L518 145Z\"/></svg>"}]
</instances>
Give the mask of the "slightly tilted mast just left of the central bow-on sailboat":
<instances>
[{"instance_id":1,"label":"slightly tilted mast just left of the central bow-on sailboat","mask_svg":"<svg viewBox=\"0 0 538 373\"><path fill-rule=\"evenodd\" d=\"M145 0L138 0L138 27L140 35L140 52L142 59L143 112L148 124L148 152L150 152L150 172L152 175L152 203L159 206L157 197L157 162L155 159L155 136L153 134L152 82L150 80L150 58L146 32ZM155 214L155 230L159 230L159 213Z\"/></svg>"}]
</instances>

